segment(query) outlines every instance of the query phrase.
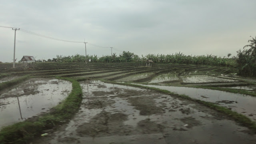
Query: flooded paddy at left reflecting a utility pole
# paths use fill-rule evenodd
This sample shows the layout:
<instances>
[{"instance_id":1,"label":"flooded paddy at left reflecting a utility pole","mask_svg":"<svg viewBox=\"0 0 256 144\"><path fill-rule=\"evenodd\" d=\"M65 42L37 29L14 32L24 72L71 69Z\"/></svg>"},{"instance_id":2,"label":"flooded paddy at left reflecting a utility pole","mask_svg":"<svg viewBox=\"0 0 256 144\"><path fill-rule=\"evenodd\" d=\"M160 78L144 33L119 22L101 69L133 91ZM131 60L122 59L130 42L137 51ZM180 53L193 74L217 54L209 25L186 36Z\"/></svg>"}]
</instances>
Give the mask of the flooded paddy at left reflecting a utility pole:
<instances>
[{"instance_id":1,"label":"flooded paddy at left reflecting a utility pole","mask_svg":"<svg viewBox=\"0 0 256 144\"><path fill-rule=\"evenodd\" d=\"M0 128L46 112L72 90L65 80L31 79L0 95Z\"/></svg>"}]
</instances>

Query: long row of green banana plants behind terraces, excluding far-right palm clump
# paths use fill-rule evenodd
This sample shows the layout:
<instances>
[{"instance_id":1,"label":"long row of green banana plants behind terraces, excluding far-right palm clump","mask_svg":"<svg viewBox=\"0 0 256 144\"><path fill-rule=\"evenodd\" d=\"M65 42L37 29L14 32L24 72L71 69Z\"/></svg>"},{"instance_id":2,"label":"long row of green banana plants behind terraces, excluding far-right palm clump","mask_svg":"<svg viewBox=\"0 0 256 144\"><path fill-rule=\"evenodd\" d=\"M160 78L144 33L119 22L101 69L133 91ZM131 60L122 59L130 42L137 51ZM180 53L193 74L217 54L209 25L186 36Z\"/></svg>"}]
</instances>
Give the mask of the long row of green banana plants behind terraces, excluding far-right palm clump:
<instances>
[{"instance_id":1,"label":"long row of green banana plants behind terraces, excluding far-right palm clump","mask_svg":"<svg viewBox=\"0 0 256 144\"><path fill-rule=\"evenodd\" d=\"M228 57L231 54L228 54ZM177 64L202 64L209 66L235 66L236 58L222 58L214 55L201 55L201 56L186 56L182 53L176 54L147 54L145 56L138 56L132 52L123 51L119 56L114 53L112 56L87 55L88 62L145 62L146 60L153 60L155 63L177 63ZM72 56L57 55L48 62L85 62L84 55L76 54Z\"/></svg>"}]
</instances>

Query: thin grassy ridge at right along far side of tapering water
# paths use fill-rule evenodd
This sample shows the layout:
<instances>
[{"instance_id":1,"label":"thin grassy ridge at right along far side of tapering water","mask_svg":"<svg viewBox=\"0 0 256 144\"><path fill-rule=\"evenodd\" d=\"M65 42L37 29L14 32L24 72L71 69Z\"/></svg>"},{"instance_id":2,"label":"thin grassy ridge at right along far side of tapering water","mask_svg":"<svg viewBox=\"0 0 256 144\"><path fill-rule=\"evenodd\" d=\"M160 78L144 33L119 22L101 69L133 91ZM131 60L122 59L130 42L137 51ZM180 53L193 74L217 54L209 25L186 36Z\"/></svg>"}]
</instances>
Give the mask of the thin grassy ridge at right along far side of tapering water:
<instances>
[{"instance_id":1,"label":"thin grassy ridge at right along far side of tapering water","mask_svg":"<svg viewBox=\"0 0 256 144\"><path fill-rule=\"evenodd\" d=\"M246 90L239 90L239 89L233 89L233 88L220 88L220 87L213 87L213 86L190 86L193 88L204 88L204 89L210 89L210 90L221 90L225 92L232 92L236 94L246 94L250 96L256 96L256 93L254 92L248 92Z\"/></svg>"}]
</instances>

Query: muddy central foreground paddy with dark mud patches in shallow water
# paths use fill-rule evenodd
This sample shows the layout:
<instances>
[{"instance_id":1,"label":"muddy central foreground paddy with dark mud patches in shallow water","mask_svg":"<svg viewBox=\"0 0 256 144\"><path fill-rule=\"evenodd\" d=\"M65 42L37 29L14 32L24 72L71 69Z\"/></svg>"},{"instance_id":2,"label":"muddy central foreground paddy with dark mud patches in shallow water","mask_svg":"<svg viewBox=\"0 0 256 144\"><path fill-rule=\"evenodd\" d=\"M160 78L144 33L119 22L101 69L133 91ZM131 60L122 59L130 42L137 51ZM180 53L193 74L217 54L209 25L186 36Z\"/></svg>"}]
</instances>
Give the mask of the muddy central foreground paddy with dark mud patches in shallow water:
<instances>
[{"instance_id":1,"label":"muddy central foreground paddy with dark mud patches in shallow water","mask_svg":"<svg viewBox=\"0 0 256 144\"><path fill-rule=\"evenodd\" d=\"M210 108L156 91L81 82L75 117L33 144L252 144L256 136Z\"/></svg>"}]
</instances>

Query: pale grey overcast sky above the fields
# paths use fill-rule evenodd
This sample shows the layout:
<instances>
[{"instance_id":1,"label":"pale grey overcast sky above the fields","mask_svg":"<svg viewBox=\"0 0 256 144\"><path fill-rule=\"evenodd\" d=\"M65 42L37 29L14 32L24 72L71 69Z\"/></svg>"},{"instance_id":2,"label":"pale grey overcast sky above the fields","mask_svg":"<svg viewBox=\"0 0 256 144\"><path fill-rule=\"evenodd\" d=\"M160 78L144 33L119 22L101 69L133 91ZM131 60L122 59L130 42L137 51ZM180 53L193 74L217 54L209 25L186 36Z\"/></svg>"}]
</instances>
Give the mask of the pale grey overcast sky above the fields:
<instances>
[{"instance_id":1,"label":"pale grey overcast sky above the fields","mask_svg":"<svg viewBox=\"0 0 256 144\"><path fill-rule=\"evenodd\" d=\"M256 36L256 0L1 0L0 26L63 40L87 54L226 56ZM90 44L89 44L90 43ZM14 30L0 28L0 61L12 62ZM84 43L16 32L16 58L85 55Z\"/></svg>"}]
</instances>

